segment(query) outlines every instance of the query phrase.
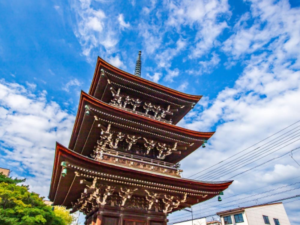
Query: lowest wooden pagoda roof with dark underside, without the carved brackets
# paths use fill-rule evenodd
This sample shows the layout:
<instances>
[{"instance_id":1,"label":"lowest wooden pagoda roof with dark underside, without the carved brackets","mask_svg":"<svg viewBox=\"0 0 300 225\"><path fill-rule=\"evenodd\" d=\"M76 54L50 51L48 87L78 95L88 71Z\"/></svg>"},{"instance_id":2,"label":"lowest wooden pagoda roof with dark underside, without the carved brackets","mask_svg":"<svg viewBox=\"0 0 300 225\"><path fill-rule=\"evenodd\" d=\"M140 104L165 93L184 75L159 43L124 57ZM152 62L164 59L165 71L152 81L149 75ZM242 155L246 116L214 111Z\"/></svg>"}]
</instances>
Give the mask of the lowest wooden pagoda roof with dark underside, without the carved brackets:
<instances>
[{"instance_id":1,"label":"lowest wooden pagoda roof with dark underside, without the carved brackets","mask_svg":"<svg viewBox=\"0 0 300 225\"><path fill-rule=\"evenodd\" d=\"M63 166L66 162L67 175L61 176ZM77 175L76 175L77 174ZM193 205L217 196L220 191L225 190L232 181L203 182L183 179L174 176L148 173L131 167L123 167L96 161L80 155L59 143L56 143L55 160L52 171L49 199L54 205L72 207L84 192L85 184L80 184L81 179L92 179L99 177L103 182L118 183L125 182L126 185L136 185L139 189L184 192L190 196L187 204ZM186 207L186 206L185 206ZM182 208L185 208L182 207ZM177 208L176 210L179 210Z\"/></svg>"}]
</instances>

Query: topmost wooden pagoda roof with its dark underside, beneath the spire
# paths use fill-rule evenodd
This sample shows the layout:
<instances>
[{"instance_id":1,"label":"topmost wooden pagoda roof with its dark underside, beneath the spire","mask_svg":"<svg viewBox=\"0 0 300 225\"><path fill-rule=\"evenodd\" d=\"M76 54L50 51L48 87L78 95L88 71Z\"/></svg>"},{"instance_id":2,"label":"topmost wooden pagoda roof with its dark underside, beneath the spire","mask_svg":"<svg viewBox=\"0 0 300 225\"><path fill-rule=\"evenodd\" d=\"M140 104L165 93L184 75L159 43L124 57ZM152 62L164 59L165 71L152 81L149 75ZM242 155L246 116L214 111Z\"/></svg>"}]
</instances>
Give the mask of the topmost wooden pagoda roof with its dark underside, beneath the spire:
<instances>
[{"instance_id":1,"label":"topmost wooden pagoda roof with its dark underside, beneath the spire","mask_svg":"<svg viewBox=\"0 0 300 225\"><path fill-rule=\"evenodd\" d=\"M105 71L107 77L101 77L101 70ZM116 88L121 88L137 98L149 99L159 105L171 105L178 108L178 112L172 116L173 124L178 123L200 100L201 95L189 95L180 91L167 88L147 79L135 76L120 70L102 58L98 57L94 77L89 90L89 95L104 101L109 102L107 88L107 78L110 79Z\"/></svg>"}]
</instances>

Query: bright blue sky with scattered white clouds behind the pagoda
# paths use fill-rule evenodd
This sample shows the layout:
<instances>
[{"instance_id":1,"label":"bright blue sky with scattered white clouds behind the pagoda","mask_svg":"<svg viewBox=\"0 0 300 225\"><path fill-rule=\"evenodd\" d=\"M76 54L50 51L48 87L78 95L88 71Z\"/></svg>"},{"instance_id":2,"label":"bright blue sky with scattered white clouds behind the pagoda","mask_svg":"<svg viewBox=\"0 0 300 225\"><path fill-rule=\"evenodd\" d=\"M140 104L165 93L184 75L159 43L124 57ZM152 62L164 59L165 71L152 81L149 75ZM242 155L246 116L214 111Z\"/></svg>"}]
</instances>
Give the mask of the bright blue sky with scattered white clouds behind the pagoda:
<instances>
[{"instance_id":1,"label":"bright blue sky with scattered white clouds behind the pagoda","mask_svg":"<svg viewBox=\"0 0 300 225\"><path fill-rule=\"evenodd\" d=\"M27 177L32 190L47 196L55 141L68 144L80 90L88 92L98 55L133 73L141 50L143 78L203 95L179 126L216 134L182 161L184 177L293 124L300 119L299 5L296 0L1 1L0 167ZM289 141L239 171L300 145ZM293 157L300 161L296 151ZM280 158L235 177L225 194L249 191L239 196L261 197L297 182L295 174L300 174L295 161ZM295 224L298 204L285 203Z\"/></svg>"}]
</instances>

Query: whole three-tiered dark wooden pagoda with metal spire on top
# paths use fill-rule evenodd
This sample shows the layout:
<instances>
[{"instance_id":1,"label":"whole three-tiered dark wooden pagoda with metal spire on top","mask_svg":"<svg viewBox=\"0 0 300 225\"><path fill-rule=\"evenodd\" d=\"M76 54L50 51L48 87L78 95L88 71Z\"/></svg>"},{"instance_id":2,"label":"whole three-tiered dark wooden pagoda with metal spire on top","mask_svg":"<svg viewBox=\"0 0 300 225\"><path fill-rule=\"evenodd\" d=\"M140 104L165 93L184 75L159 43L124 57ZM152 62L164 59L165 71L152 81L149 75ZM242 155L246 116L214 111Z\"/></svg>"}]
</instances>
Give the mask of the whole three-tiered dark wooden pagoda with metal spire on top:
<instances>
[{"instance_id":1,"label":"whole three-tiered dark wooden pagoda with metal spire on top","mask_svg":"<svg viewBox=\"0 0 300 225\"><path fill-rule=\"evenodd\" d=\"M181 177L179 162L214 134L176 126L201 97L141 78L141 52L134 75L98 57L69 146L56 143L49 199L87 225L166 225L219 195L232 181Z\"/></svg>"}]
</instances>

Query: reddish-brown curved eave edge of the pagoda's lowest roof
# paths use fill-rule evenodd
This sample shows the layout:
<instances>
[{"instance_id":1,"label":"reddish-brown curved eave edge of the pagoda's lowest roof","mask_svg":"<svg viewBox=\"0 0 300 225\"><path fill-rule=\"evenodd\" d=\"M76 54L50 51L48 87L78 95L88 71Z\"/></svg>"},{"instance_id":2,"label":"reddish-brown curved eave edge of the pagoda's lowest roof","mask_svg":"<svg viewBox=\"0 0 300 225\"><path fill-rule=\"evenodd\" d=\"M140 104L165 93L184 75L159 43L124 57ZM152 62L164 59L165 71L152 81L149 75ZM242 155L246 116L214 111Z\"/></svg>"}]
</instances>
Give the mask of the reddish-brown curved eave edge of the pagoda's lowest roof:
<instances>
[{"instance_id":1,"label":"reddish-brown curved eave edge of the pagoda's lowest roof","mask_svg":"<svg viewBox=\"0 0 300 225\"><path fill-rule=\"evenodd\" d=\"M224 182L201 182L201 181L195 181L190 179L183 179L178 177L172 177L172 176L164 176L159 174L153 174L143 171L137 171L130 168L125 168L117 165L107 164L100 161L93 160L91 158L87 158L83 155L80 155L76 152L73 152L70 149L67 149L60 143L56 143L56 149L55 149L55 159L54 159L54 166L52 171L52 179L51 179L51 185L49 190L49 199L51 201L55 200L55 194L57 193L58 183L61 176L61 162L62 161L70 161L71 163L76 163L79 166L84 165L88 169L96 170L96 171L102 171L104 168L109 169L110 171L117 172L119 174L125 174L129 177L143 177L147 180L160 180L164 183L170 183L177 186L188 186L188 187L198 187L198 188L204 188L204 189L210 189L210 190L225 190L229 187L229 185L233 181L224 181ZM70 188L66 187L64 185L64 188Z\"/></svg>"}]
</instances>

